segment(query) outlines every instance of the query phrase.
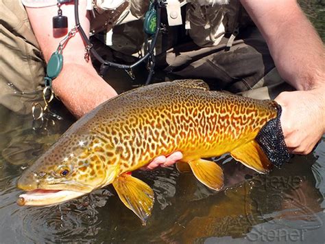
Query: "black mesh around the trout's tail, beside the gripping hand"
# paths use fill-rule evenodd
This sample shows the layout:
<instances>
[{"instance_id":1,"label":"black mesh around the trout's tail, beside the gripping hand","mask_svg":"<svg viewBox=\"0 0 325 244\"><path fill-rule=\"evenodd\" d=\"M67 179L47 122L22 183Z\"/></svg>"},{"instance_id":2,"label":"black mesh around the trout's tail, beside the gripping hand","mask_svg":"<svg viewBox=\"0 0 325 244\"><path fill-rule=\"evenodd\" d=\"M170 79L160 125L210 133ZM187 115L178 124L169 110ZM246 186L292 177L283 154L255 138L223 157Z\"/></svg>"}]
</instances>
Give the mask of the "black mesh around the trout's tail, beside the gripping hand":
<instances>
[{"instance_id":1,"label":"black mesh around the trout's tail, beside the gripping hand","mask_svg":"<svg viewBox=\"0 0 325 244\"><path fill-rule=\"evenodd\" d=\"M255 138L269 161L278 168L290 159L290 153L287 150L281 128L281 112L282 109L278 105L278 115L276 118L269 120Z\"/></svg>"}]
</instances>

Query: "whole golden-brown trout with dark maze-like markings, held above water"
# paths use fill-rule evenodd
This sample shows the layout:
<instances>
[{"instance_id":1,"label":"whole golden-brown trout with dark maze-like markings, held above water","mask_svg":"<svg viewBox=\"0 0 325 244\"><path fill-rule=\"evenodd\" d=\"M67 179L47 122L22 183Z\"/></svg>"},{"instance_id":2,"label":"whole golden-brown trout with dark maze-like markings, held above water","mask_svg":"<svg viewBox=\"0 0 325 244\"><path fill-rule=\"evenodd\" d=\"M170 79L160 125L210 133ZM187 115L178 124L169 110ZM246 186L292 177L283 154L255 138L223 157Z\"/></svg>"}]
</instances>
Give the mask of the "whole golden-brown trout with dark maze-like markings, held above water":
<instances>
[{"instance_id":1,"label":"whole golden-brown trout with dark maze-like markings, held above water","mask_svg":"<svg viewBox=\"0 0 325 244\"><path fill-rule=\"evenodd\" d=\"M276 118L272 100L209 91L202 80L140 87L104 102L77 120L18 181L20 206L62 203L112 184L125 206L145 223L154 192L130 175L159 155L182 152L178 168L190 168L213 190L223 171L203 158L230 153L259 173L272 167L257 142L258 131Z\"/></svg>"}]
</instances>

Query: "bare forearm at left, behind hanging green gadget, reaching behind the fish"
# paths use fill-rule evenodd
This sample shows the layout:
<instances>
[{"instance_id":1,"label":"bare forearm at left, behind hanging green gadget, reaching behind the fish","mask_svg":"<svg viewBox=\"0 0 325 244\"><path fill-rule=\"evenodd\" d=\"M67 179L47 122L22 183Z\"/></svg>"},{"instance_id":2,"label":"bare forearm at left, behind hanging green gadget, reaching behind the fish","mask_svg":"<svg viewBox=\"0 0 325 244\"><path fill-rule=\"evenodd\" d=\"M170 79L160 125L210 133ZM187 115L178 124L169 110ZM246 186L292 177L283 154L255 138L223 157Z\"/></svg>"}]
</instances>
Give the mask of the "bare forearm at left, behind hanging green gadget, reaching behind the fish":
<instances>
[{"instance_id":1,"label":"bare forearm at left, behind hanging green gadget, reaching behind the fish","mask_svg":"<svg viewBox=\"0 0 325 244\"><path fill-rule=\"evenodd\" d=\"M68 16L70 31L75 27L74 5L62 5L62 14ZM58 14L58 7L26 8L45 61L56 51L64 36L53 35L52 17ZM79 5L80 23L89 32L89 20L85 1ZM40 24L40 21L42 22ZM53 90L64 105L77 117L84 115L101 102L117 93L97 75L91 61L84 59L85 44L79 32L72 36L62 50L63 67L53 80Z\"/></svg>"}]
</instances>

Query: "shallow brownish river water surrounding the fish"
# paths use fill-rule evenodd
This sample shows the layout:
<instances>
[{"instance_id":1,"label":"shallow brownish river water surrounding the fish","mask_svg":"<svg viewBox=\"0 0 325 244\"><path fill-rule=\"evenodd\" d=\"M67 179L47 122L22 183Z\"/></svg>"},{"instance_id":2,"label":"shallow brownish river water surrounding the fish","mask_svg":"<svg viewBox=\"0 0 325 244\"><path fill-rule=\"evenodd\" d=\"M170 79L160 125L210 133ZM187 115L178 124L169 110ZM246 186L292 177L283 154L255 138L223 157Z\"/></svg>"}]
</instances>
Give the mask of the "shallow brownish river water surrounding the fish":
<instances>
[{"instance_id":1,"label":"shallow brownish river water surrounding the fish","mask_svg":"<svg viewBox=\"0 0 325 244\"><path fill-rule=\"evenodd\" d=\"M316 5L315 5L316 4ZM324 40L322 1L302 5ZM112 72L112 78L127 78ZM16 181L46 151L73 118L62 109L34 123L1 108L0 243L324 243L325 137L315 151L295 156L268 175L215 158L226 189L213 192L175 168L139 171L155 192L147 225L125 208L108 186L60 206L19 207Z\"/></svg>"}]
</instances>

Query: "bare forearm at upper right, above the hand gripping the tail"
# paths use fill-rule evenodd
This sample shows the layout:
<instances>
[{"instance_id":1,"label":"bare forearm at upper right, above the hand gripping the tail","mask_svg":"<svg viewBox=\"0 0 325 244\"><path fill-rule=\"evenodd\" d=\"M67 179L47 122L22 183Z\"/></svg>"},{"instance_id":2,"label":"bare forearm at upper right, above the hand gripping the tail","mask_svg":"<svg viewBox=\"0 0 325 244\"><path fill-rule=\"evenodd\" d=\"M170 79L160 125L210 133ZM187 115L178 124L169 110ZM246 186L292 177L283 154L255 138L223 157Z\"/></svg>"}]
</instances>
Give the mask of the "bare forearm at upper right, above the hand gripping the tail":
<instances>
[{"instance_id":1,"label":"bare forearm at upper right, above the hand gripping the tail","mask_svg":"<svg viewBox=\"0 0 325 244\"><path fill-rule=\"evenodd\" d=\"M294 0L241 0L261 30L280 76L298 90L325 87L324 45Z\"/></svg>"}]
</instances>

